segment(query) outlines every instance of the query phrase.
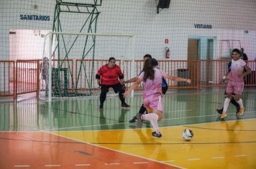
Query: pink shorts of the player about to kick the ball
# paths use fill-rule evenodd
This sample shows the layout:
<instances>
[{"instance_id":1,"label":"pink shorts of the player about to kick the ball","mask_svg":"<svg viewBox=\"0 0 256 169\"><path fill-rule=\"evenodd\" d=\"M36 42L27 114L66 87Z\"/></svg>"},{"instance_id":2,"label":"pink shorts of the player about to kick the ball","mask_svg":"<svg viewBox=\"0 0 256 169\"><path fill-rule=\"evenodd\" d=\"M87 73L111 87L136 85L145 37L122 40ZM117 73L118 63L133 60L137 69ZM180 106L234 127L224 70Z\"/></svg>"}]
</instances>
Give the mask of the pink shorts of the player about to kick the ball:
<instances>
[{"instance_id":1,"label":"pink shorts of the player about to kick the ball","mask_svg":"<svg viewBox=\"0 0 256 169\"><path fill-rule=\"evenodd\" d=\"M145 107L150 107L152 109L163 112L163 98L160 94L145 97L143 100L143 104Z\"/></svg>"}]
</instances>

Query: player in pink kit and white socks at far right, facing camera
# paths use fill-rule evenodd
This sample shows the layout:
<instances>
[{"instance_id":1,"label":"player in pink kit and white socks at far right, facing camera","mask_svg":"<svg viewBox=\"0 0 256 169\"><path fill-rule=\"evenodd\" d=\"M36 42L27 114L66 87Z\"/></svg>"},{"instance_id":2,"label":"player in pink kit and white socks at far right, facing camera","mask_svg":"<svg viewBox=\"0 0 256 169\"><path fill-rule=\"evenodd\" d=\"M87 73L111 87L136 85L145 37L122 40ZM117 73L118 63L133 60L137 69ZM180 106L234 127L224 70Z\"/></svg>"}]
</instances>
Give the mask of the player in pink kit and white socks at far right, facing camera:
<instances>
[{"instance_id":1,"label":"player in pink kit and white socks at far right, facing camera","mask_svg":"<svg viewBox=\"0 0 256 169\"><path fill-rule=\"evenodd\" d=\"M241 53L239 49L233 49L230 72L227 73L227 79L229 80L226 89L227 97L224 101L223 112L220 116L221 119L227 117L227 107L229 107L233 92L235 94L235 100L240 106L238 115L244 114L244 105L242 104L241 96L244 90L244 77L251 73L251 69L240 57Z\"/></svg>"}]
</instances>

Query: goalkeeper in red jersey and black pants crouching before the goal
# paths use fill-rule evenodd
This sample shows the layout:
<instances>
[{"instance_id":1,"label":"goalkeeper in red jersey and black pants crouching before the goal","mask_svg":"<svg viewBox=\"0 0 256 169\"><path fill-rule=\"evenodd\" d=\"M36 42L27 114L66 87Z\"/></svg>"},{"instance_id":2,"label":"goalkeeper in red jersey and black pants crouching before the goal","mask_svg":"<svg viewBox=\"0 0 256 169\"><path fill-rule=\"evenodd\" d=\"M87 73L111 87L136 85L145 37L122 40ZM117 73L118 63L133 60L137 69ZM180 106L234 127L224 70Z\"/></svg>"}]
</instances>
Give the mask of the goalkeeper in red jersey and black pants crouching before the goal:
<instances>
[{"instance_id":1,"label":"goalkeeper in red jersey and black pants crouching before the goal","mask_svg":"<svg viewBox=\"0 0 256 169\"><path fill-rule=\"evenodd\" d=\"M116 59L114 57L109 58L109 63L102 66L96 74L96 79L101 87L101 95L99 97L100 105L99 109L103 110L104 101L106 100L106 93L109 92L109 87L113 88L114 92L119 92L119 99L121 101L121 107L129 107L124 102L123 93L124 90L124 74L118 65L116 65ZM122 84L121 84L122 83Z\"/></svg>"}]
</instances>

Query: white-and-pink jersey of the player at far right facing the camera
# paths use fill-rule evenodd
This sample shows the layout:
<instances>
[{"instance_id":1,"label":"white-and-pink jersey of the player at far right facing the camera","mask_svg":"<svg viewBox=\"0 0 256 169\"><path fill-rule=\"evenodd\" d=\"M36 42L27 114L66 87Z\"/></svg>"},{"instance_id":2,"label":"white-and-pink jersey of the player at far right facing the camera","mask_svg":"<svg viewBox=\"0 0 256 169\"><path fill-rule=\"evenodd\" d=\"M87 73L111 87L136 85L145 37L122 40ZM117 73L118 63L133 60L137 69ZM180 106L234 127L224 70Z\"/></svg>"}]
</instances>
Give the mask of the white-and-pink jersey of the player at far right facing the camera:
<instances>
[{"instance_id":1,"label":"white-and-pink jersey of the player at far right facing the camera","mask_svg":"<svg viewBox=\"0 0 256 169\"><path fill-rule=\"evenodd\" d=\"M227 75L227 78L234 82L244 82L242 73L244 71L245 65L246 65L246 63L242 59L238 59L236 61L234 61L234 59L232 59L231 67L230 67L231 71Z\"/></svg>"}]
</instances>

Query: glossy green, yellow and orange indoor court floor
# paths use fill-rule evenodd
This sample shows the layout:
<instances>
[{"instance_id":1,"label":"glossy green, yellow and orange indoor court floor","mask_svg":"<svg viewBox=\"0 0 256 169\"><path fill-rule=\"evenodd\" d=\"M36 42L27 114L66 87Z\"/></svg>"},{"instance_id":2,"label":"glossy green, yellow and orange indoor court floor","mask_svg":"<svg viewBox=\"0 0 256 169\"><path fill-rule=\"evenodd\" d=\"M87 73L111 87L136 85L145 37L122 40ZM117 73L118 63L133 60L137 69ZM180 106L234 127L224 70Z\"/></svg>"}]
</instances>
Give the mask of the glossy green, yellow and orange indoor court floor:
<instances>
[{"instance_id":1,"label":"glossy green, yellow and orange indoor court floor","mask_svg":"<svg viewBox=\"0 0 256 169\"><path fill-rule=\"evenodd\" d=\"M137 95L129 109L109 97L103 111L98 98L1 103L1 168L255 168L255 90L244 92L239 119L231 106L219 120L223 99L223 89L165 95L160 138L149 122L128 122L142 104Z\"/></svg>"}]
</instances>

